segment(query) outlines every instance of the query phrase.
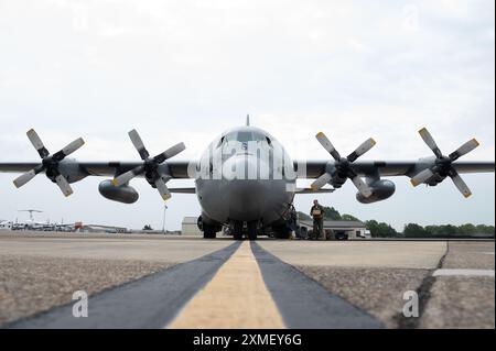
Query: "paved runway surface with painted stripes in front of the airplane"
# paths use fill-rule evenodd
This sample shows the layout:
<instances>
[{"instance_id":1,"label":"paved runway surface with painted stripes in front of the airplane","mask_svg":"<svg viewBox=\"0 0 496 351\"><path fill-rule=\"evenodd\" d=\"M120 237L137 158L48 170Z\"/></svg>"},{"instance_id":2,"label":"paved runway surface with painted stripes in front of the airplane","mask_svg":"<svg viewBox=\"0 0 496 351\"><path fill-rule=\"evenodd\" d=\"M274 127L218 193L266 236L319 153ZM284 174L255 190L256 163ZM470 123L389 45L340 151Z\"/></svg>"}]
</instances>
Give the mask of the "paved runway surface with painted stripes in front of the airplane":
<instances>
[{"instance_id":1,"label":"paved runway surface with painted stripes in front of the airplane","mask_svg":"<svg viewBox=\"0 0 496 351\"><path fill-rule=\"evenodd\" d=\"M0 327L495 328L494 254L494 241L0 232Z\"/></svg>"}]
</instances>

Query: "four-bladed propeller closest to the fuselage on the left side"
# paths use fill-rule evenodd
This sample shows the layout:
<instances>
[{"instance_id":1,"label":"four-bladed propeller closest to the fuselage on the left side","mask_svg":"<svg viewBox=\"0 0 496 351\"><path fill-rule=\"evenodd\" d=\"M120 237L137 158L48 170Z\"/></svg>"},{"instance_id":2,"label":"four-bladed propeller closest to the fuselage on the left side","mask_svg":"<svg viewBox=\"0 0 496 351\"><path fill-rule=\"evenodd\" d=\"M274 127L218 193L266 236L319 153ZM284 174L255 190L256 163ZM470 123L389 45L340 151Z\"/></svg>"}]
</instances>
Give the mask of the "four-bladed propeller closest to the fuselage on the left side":
<instances>
[{"instance_id":1,"label":"four-bladed propeller closest to the fuselage on the left side","mask_svg":"<svg viewBox=\"0 0 496 351\"><path fill-rule=\"evenodd\" d=\"M129 180L136 178L137 176L144 174L148 183L150 183L152 187L159 190L160 196L164 200L170 199L171 193L169 191L169 188L166 186L166 182L169 182L169 179L166 177L162 177L158 169L162 163L183 152L186 149L186 146L184 145L184 143L179 143L168 149L165 152L154 157L150 157L150 153L148 152L147 147L144 147L143 141L141 140L141 136L138 134L136 130L129 132L129 138L131 139L132 144L140 154L140 157L143 161L143 163L138 167L116 177L112 180L114 186L121 186L123 184L127 184Z\"/></svg>"}]
</instances>

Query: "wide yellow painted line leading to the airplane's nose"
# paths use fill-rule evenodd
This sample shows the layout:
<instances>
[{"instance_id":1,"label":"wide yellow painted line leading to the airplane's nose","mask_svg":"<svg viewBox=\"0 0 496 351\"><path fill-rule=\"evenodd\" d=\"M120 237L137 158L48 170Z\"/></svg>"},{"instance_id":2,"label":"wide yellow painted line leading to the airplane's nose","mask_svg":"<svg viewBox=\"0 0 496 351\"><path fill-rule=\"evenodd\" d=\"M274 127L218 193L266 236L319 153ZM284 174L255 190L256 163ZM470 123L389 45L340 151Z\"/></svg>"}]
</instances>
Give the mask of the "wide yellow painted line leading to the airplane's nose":
<instances>
[{"instance_id":1,"label":"wide yellow painted line leading to the airplane's nose","mask_svg":"<svg viewBox=\"0 0 496 351\"><path fill-rule=\"evenodd\" d=\"M166 328L285 328L249 242L238 248Z\"/></svg>"}]
</instances>

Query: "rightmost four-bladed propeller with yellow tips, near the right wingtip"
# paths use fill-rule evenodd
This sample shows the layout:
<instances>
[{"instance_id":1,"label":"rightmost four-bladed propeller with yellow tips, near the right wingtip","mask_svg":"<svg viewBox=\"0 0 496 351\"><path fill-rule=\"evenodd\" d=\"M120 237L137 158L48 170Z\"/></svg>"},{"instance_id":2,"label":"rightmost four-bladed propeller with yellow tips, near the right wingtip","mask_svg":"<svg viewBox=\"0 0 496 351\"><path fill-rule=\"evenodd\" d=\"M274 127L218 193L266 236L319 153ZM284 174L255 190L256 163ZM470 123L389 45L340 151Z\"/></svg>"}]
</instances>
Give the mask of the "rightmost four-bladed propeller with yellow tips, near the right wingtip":
<instances>
[{"instance_id":1,"label":"rightmost four-bladed propeller with yellow tips, near the right wingtip","mask_svg":"<svg viewBox=\"0 0 496 351\"><path fill-rule=\"evenodd\" d=\"M422 140L425 142L429 149L431 149L434 153L435 163L432 167L420 172L418 175L411 178L411 184L413 186L418 186L422 183L428 182L434 176L439 176L441 178L445 178L446 176L449 176L453 180L459 191L462 193L464 197L470 197L472 195L472 191L463 180L463 178L460 176L460 174L456 172L456 169L453 167L453 162L476 149L479 145L478 141L472 139L460 146L457 150L452 152L449 156L444 156L434 139L432 138L431 133L425 128L422 128L419 131L419 134L420 136L422 136Z\"/></svg>"}]
</instances>

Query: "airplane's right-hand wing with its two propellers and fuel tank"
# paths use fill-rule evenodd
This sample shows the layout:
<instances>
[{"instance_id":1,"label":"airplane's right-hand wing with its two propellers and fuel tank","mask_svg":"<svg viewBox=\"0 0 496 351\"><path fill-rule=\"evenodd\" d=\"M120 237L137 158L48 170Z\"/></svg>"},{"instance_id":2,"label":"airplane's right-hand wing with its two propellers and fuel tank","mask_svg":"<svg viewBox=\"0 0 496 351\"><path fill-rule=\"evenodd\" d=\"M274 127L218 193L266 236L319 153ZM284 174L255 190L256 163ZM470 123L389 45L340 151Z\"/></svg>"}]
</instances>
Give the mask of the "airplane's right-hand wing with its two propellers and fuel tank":
<instances>
[{"instance_id":1,"label":"airplane's right-hand wing with its two propellers and fuel tank","mask_svg":"<svg viewBox=\"0 0 496 351\"><path fill-rule=\"evenodd\" d=\"M470 197L472 191L460 174L495 169L494 161L461 162L459 160L479 146L475 139L468 140L450 154L443 154L425 128L419 130L419 134L432 151L433 156L417 161L360 161L358 158L376 145L374 139L369 138L351 154L344 156L323 132L319 132L315 138L330 154L330 160L296 162L294 169L300 178L315 179L311 185L314 190L321 189L326 184L338 188L349 179L358 189L357 199L364 204L386 199L395 193L395 184L390 180L381 180L381 177L408 176L413 186L420 184L435 186L450 177L459 191Z\"/></svg>"}]
</instances>

